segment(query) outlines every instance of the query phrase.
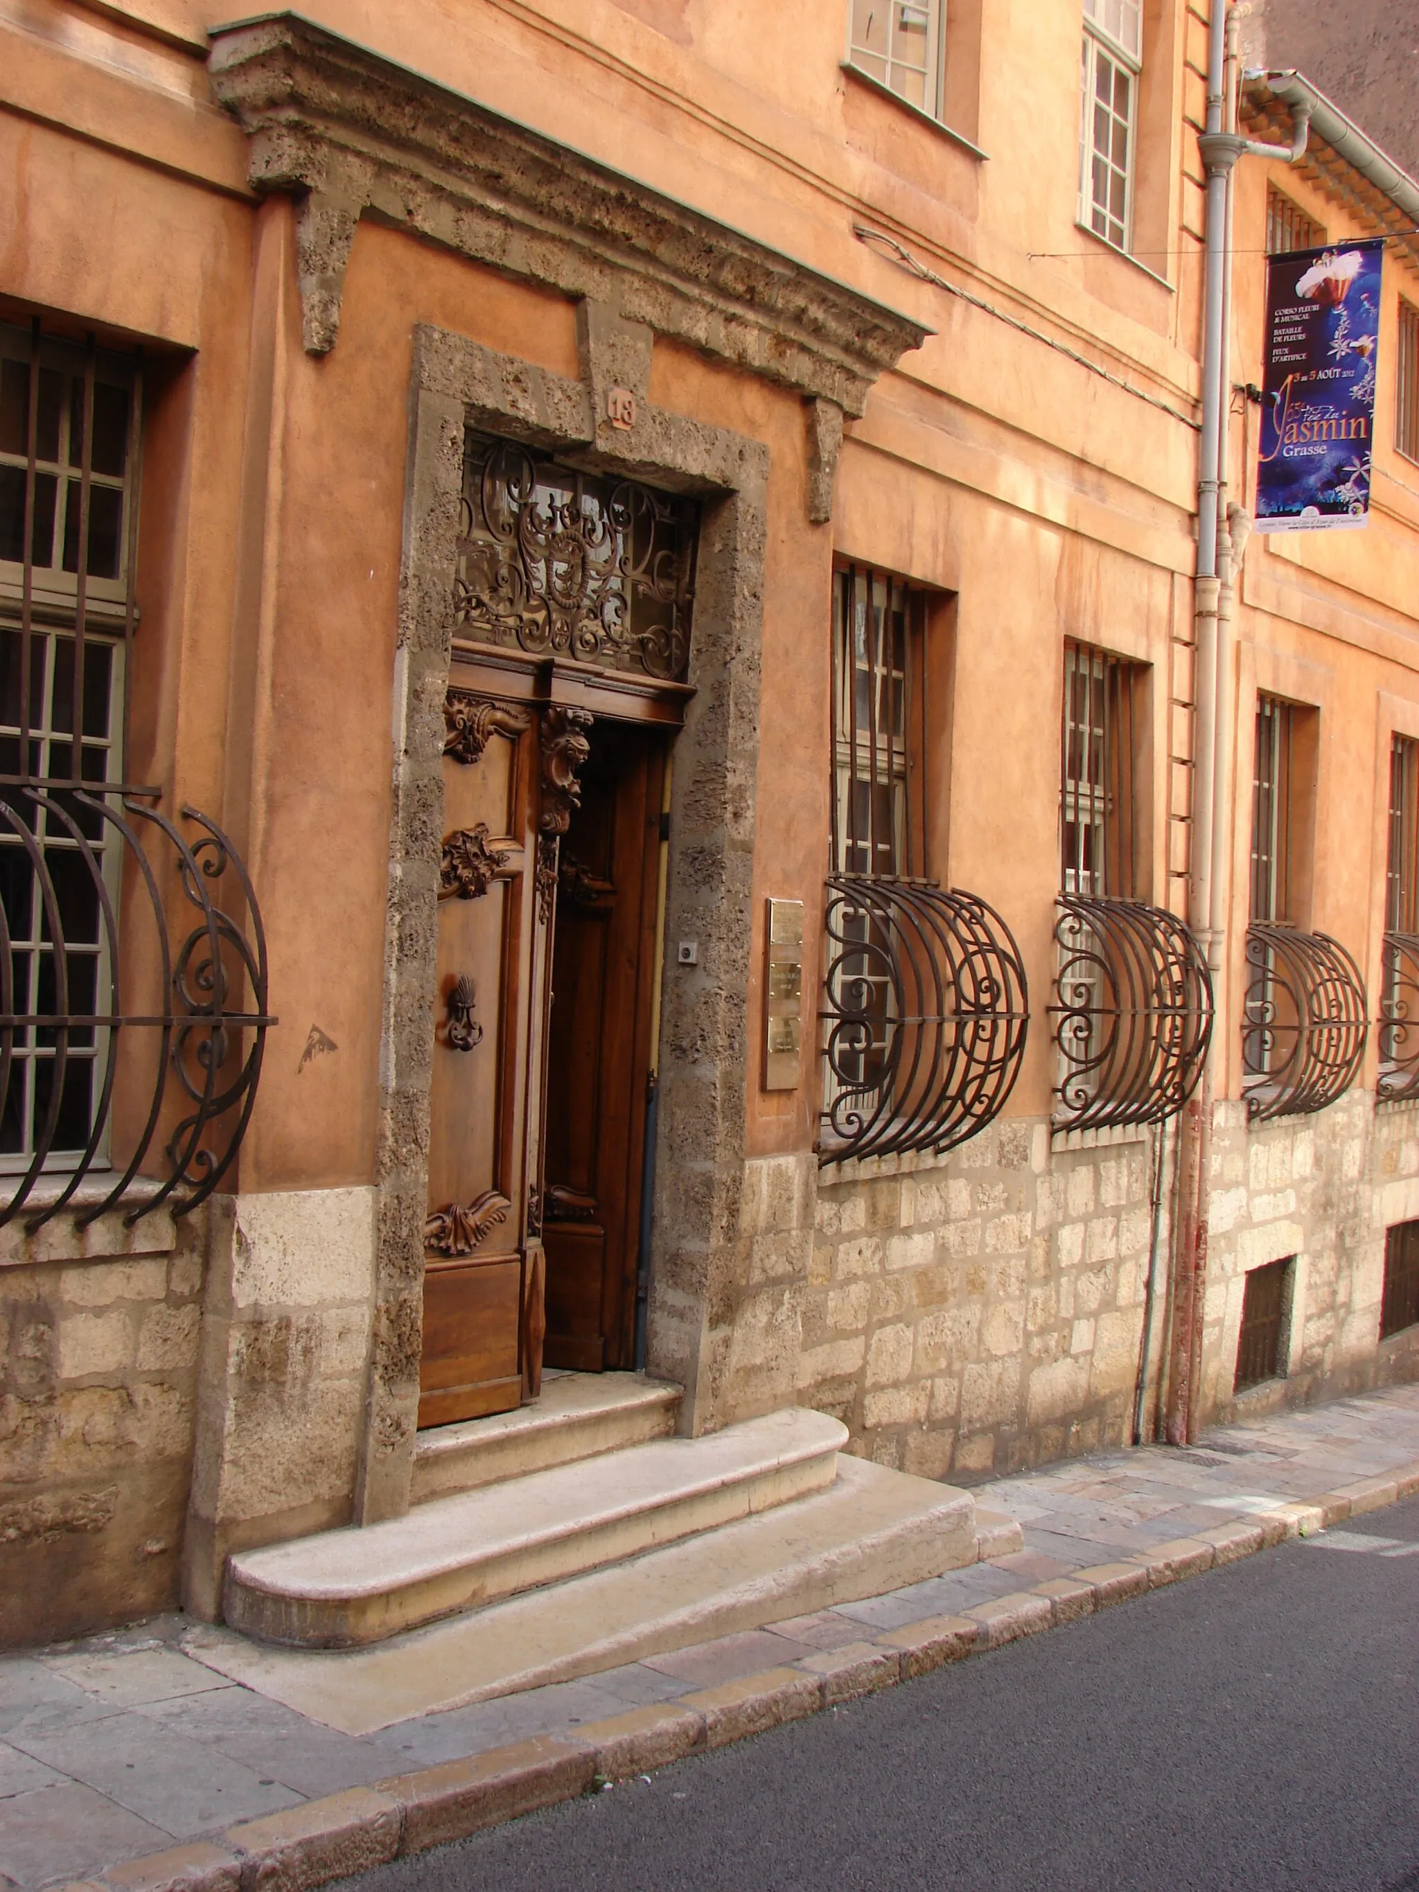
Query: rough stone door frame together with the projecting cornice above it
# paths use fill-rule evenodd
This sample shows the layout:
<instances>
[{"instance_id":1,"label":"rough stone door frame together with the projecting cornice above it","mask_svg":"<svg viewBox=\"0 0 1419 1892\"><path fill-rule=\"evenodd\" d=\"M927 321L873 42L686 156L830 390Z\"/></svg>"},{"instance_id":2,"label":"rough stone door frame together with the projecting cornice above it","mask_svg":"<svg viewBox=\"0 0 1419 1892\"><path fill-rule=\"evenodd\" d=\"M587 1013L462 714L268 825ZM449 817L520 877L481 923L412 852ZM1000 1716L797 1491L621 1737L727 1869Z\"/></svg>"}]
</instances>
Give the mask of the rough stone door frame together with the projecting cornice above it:
<instances>
[{"instance_id":1,"label":"rough stone door frame together with the projecting cornice above it","mask_svg":"<svg viewBox=\"0 0 1419 1892\"><path fill-rule=\"evenodd\" d=\"M431 327L414 337L373 1330L352 1493L354 1519L371 1523L409 1506L418 1402L439 770L464 429L702 499L696 694L677 742L668 908L670 937L698 938L700 963L668 984L662 1018L651 1370L685 1387L687 1430L704 1430L728 1417L713 1410L713 1355L727 1351L742 1298L742 1198L755 1194L745 1018L734 995L749 972L768 448L651 407L653 344L657 335L687 342L802 401L804 522L821 526L844 416L863 412L872 382L929 329L299 15L218 28L210 78L252 138L252 185L295 197L310 354L337 344L361 216L556 289L579 308L579 380L469 337ZM624 394L634 399L630 426Z\"/></svg>"}]
</instances>

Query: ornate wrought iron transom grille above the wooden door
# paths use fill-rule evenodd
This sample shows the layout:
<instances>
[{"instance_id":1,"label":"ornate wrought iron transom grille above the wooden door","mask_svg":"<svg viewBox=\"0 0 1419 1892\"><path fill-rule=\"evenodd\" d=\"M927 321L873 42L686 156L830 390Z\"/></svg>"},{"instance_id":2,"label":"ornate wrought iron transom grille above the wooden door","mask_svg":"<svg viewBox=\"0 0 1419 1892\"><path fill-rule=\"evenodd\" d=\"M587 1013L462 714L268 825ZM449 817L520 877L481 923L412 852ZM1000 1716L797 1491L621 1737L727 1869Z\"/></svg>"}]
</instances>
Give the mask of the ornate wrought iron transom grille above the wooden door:
<instances>
[{"instance_id":1,"label":"ornate wrought iron transom grille above the wooden door","mask_svg":"<svg viewBox=\"0 0 1419 1892\"><path fill-rule=\"evenodd\" d=\"M467 431L454 628L683 681L698 507Z\"/></svg>"}]
</instances>

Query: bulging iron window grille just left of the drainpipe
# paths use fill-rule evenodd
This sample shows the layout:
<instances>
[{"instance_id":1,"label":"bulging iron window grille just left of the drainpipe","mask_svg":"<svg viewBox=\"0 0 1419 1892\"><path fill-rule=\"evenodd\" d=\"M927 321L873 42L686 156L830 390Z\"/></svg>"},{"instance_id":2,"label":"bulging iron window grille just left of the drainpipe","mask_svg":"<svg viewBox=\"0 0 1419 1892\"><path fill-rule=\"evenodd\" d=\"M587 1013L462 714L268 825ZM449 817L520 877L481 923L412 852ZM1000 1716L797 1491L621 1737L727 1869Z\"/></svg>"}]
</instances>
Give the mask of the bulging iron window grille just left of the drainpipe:
<instances>
[{"instance_id":1,"label":"bulging iron window grille just left of the drainpipe","mask_svg":"<svg viewBox=\"0 0 1419 1892\"><path fill-rule=\"evenodd\" d=\"M1213 980L1188 927L1147 901L1060 895L1054 1122L1158 1124L1188 1101L1213 1035Z\"/></svg>"}]
</instances>

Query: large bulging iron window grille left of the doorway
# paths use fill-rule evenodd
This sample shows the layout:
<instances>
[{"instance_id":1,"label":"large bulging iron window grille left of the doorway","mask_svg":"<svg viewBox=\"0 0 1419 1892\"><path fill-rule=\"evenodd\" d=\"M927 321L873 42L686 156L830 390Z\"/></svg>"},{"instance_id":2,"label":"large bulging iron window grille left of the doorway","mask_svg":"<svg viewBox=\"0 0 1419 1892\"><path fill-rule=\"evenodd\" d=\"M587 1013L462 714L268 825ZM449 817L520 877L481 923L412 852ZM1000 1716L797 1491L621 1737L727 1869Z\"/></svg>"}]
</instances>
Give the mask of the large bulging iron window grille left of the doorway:
<instances>
[{"instance_id":1,"label":"large bulging iron window grille left of the doorway","mask_svg":"<svg viewBox=\"0 0 1419 1892\"><path fill-rule=\"evenodd\" d=\"M11 1167L13 1181L0 1184L0 1226L25 1211L42 1179L45 1200L26 1218L30 1234L74 1203L81 1184L98 1181L102 1190L110 1177L96 1201L89 1190L76 1205L79 1228L110 1211L129 1226L155 1209L187 1215L231 1169L276 1024L246 867L201 810L184 806L197 829L184 836L134 795L21 785L0 802L0 844L25 855L28 899L44 912L47 961L40 1003L17 1008L28 948L0 904L0 1099L8 1118L23 1086L38 1099L30 1147L6 1152L25 1169ZM104 867L115 844L121 876ZM189 931L174 925L178 897L197 910ZM144 1007L144 997L155 1003ZM149 1165L155 1139L163 1177ZM47 1200L53 1182L62 1188Z\"/></svg>"}]
</instances>

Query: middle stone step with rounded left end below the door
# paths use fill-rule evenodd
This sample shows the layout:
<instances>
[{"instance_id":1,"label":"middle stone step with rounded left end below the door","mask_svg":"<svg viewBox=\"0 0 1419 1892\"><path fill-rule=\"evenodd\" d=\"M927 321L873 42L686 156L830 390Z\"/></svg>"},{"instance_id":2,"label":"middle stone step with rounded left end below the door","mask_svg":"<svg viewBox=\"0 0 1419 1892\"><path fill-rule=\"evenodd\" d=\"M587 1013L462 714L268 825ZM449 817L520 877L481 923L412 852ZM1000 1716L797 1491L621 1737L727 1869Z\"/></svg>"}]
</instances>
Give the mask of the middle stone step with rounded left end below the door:
<instances>
[{"instance_id":1,"label":"middle stone step with rounded left end below the door","mask_svg":"<svg viewBox=\"0 0 1419 1892\"><path fill-rule=\"evenodd\" d=\"M706 1438L530 1472L231 1557L223 1612L269 1642L377 1642L821 1491L846 1442L836 1419L791 1406Z\"/></svg>"}]
</instances>

